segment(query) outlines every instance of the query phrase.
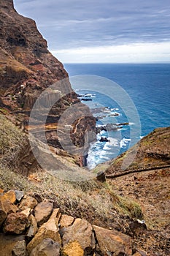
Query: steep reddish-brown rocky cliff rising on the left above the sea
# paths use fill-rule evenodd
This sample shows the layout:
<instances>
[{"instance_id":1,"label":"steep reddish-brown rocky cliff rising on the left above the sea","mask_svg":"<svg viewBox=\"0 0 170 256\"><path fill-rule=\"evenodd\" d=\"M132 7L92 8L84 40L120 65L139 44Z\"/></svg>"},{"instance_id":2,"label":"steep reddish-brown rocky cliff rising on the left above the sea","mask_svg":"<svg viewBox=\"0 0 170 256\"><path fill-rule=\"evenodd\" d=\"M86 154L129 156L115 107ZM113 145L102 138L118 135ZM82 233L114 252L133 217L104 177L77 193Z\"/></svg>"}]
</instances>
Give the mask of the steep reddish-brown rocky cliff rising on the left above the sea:
<instances>
[{"instance_id":1,"label":"steep reddish-brown rocky cliff rising on the left above the sea","mask_svg":"<svg viewBox=\"0 0 170 256\"><path fill-rule=\"evenodd\" d=\"M68 74L63 64L47 50L47 41L37 30L34 20L19 15L12 0L0 0L0 22L0 107L6 108L12 113L12 119L15 116L18 124L28 128L28 116L34 102L48 86L55 85L54 89L47 91L41 105L42 113L36 116L35 124L39 127L46 112L47 142L62 148L56 132L58 120L66 109L80 103L69 83ZM49 112L50 102L55 97L56 102ZM72 129L77 129L76 133L73 132L72 140L76 146L82 146L85 132L90 129L95 131L96 121L85 105L80 103L77 111L85 117L81 125L79 120L74 122ZM49 124L56 124L55 128ZM94 139L92 137L90 140Z\"/></svg>"}]
</instances>

